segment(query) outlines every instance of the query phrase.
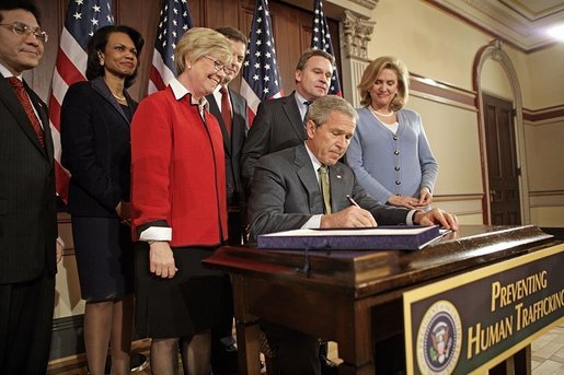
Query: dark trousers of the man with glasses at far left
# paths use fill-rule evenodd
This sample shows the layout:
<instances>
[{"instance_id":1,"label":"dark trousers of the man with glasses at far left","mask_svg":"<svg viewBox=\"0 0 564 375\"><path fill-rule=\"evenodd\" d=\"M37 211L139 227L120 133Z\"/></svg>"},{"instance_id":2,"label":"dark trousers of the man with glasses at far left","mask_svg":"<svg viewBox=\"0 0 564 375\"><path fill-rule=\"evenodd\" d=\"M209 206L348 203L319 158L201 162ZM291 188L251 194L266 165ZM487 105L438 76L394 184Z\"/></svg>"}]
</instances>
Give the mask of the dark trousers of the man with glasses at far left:
<instances>
[{"instance_id":1,"label":"dark trousers of the man with glasses at far left","mask_svg":"<svg viewBox=\"0 0 564 375\"><path fill-rule=\"evenodd\" d=\"M45 375L49 361L55 276L0 284L0 373Z\"/></svg>"}]
</instances>

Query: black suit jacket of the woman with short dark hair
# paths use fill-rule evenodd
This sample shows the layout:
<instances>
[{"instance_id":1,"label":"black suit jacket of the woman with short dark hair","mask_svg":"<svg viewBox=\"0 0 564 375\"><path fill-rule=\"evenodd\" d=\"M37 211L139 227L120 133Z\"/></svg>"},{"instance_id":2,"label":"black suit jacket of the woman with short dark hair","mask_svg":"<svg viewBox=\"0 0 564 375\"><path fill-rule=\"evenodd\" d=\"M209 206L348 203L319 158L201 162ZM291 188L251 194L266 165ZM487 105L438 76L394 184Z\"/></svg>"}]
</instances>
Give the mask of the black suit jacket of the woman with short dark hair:
<instances>
[{"instance_id":1,"label":"black suit jacket of the woman with short dark hair","mask_svg":"<svg viewBox=\"0 0 564 375\"><path fill-rule=\"evenodd\" d=\"M71 215L117 218L115 208L119 201L130 201L129 122L137 103L126 91L124 94L131 110L129 115L102 78L76 83L65 96L61 162L71 173L68 203ZM91 120L85 121L89 116Z\"/></svg>"}]
</instances>

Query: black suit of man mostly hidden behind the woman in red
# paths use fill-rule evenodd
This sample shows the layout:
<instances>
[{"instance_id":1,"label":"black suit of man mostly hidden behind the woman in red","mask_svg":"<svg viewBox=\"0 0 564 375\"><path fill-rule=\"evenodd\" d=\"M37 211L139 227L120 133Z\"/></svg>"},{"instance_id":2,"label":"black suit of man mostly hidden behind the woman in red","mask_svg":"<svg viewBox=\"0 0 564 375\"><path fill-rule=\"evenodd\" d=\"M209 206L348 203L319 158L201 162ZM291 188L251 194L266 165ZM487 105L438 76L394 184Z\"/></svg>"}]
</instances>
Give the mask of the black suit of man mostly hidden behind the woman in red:
<instances>
[{"instance_id":1,"label":"black suit of man mostly hidden behind the woman in red","mask_svg":"<svg viewBox=\"0 0 564 375\"><path fill-rule=\"evenodd\" d=\"M232 90L229 90L231 98L232 128L231 137L229 137L223 117L221 117L220 106L214 95L208 95L209 112L216 116L223 136L223 150L226 154L226 183L227 183L227 204L228 204L228 226L229 238L228 244L241 245L241 238L244 234L245 197L243 183L241 180L241 151L243 142L249 129L249 116L246 112L246 101ZM221 323L211 329L211 367L214 373L221 374L223 371L229 372L237 370L233 361L230 360L225 344L221 339L231 336L233 327L233 296L231 291L231 281L229 276L223 278L225 301L221 301ZM229 342L229 341L228 341ZM233 356L235 353L232 353Z\"/></svg>"}]
</instances>

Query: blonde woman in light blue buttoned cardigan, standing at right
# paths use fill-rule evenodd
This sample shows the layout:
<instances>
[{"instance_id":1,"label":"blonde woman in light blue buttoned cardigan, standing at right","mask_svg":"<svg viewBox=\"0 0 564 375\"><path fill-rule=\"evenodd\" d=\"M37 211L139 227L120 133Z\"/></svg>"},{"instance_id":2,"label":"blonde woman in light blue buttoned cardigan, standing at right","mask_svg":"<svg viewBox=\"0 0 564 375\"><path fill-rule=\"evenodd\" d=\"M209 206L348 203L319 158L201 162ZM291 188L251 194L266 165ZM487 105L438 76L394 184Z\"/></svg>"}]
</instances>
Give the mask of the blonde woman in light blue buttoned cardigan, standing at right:
<instances>
[{"instance_id":1,"label":"blonde woman in light blue buttoned cardigan, standing at right","mask_svg":"<svg viewBox=\"0 0 564 375\"><path fill-rule=\"evenodd\" d=\"M355 136L346 161L373 198L393 206L428 210L438 175L421 116L402 109L408 97L408 72L402 61L380 57L358 85Z\"/></svg>"}]
</instances>

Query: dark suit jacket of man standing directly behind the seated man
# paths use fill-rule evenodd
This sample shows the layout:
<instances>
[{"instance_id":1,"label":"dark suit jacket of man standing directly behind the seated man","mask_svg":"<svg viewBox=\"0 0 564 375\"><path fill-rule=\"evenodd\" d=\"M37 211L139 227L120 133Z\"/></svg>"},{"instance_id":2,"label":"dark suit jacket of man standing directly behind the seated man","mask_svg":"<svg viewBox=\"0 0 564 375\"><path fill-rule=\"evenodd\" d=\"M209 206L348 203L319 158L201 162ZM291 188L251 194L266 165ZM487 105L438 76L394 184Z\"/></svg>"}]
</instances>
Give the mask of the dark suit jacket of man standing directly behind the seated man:
<instances>
[{"instance_id":1,"label":"dark suit jacket of man standing directly behind the seated man","mask_svg":"<svg viewBox=\"0 0 564 375\"><path fill-rule=\"evenodd\" d=\"M245 186L251 188L253 172L263 155L298 145L306 140L306 127L296 103L296 92L258 105L241 159Z\"/></svg>"}]
</instances>

